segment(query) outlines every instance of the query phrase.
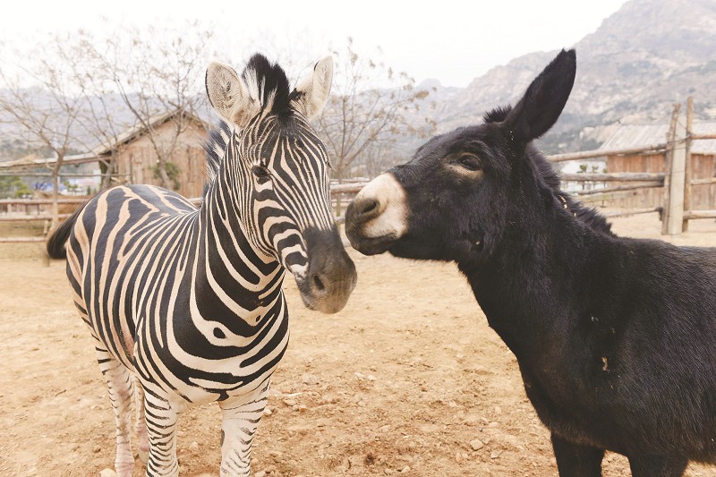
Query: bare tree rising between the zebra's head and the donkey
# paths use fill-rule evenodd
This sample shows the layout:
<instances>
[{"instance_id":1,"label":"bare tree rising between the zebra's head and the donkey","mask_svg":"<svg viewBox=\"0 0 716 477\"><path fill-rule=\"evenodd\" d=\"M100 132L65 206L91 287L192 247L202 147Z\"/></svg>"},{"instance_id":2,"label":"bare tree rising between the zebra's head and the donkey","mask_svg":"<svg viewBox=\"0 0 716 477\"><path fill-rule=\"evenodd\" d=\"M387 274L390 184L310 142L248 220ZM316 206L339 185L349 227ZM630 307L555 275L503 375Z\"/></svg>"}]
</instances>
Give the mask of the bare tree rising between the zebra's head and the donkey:
<instances>
[{"instance_id":1,"label":"bare tree rising between the zebra's head and the donkey","mask_svg":"<svg viewBox=\"0 0 716 477\"><path fill-rule=\"evenodd\" d=\"M407 73L358 55L352 38L333 55L334 86L316 129L328 147L333 176L342 183L369 151L384 154L402 136L428 134L434 125L418 115L429 91L416 89ZM340 203L338 213L339 208Z\"/></svg>"}]
</instances>

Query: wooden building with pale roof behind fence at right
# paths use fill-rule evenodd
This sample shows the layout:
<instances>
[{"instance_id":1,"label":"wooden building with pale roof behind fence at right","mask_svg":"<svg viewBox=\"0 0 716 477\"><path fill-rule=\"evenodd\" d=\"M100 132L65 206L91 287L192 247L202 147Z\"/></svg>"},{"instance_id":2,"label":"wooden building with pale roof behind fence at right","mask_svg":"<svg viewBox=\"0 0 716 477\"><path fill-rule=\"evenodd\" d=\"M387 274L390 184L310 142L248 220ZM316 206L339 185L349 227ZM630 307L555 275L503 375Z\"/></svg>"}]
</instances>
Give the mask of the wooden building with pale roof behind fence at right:
<instances>
[{"instance_id":1,"label":"wooden building with pale roof behind fence at right","mask_svg":"<svg viewBox=\"0 0 716 477\"><path fill-rule=\"evenodd\" d=\"M694 134L716 133L716 122L695 122ZM668 124L628 124L621 125L605 141L600 149L636 149L663 144L667 141ZM663 152L651 154L633 154L607 156L607 172L648 172L663 173L666 170L666 157ZM691 178L709 179L716 176L716 140L699 140L691 143ZM634 184L634 183L632 183ZM612 183L611 186L626 185ZM609 200L609 207L651 208L663 204L662 188L642 189L619 192ZM694 185L691 195L691 209L716 209L716 184Z\"/></svg>"}]
</instances>

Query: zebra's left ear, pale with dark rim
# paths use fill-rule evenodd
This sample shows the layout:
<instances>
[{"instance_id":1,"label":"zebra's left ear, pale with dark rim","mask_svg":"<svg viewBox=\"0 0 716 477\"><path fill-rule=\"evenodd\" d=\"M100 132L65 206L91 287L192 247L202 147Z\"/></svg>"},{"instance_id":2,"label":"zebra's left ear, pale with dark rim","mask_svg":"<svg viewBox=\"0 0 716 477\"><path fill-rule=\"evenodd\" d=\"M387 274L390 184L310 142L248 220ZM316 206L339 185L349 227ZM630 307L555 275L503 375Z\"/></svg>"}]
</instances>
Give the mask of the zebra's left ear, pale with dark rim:
<instances>
[{"instance_id":1,"label":"zebra's left ear, pale with dark rim","mask_svg":"<svg viewBox=\"0 0 716 477\"><path fill-rule=\"evenodd\" d=\"M242 128L260 110L241 77L227 64L211 62L207 68L209 103L226 122Z\"/></svg>"}]
</instances>

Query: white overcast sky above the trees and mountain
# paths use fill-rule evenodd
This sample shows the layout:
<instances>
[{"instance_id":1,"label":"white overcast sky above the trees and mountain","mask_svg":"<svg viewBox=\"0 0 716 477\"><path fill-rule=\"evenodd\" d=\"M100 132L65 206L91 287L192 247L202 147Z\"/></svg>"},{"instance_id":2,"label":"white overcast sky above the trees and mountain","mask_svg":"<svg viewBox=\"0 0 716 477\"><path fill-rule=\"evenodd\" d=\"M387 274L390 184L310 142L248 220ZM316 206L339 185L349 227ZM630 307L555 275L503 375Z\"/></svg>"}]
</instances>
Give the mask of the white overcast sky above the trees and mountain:
<instances>
[{"instance_id":1,"label":"white overcast sky above the trees and mountain","mask_svg":"<svg viewBox=\"0 0 716 477\"><path fill-rule=\"evenodd\" d=\"M464 87L517 56L573 46L624 3L20 0L0 15L0 40L31 42L55 30L97 30L106 26L102 18L137 26L199 20L212 25L217 38L234 49L261 49L261 38L270 38L267 43L274 47L311 49L316 59L345 45L350 36L360 51L374 54L379 47L386 64L418 82L434 78L445 86ZM235 55L245 58L248 53Z\"/></svg>"}]
</instances>

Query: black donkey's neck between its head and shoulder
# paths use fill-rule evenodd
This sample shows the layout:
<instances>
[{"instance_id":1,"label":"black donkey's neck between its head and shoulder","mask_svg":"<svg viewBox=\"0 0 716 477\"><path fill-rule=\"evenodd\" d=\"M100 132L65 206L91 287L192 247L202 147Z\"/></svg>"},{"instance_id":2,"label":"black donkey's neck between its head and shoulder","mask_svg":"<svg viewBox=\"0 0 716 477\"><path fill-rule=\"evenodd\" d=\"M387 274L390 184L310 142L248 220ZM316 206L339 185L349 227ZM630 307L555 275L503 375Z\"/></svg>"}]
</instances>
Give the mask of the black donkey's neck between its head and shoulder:
<instances>
[{"instance_id":1,"label":"black donkey's neck between its head and shoulder","mask_svg":"<svg viewBox=\"0 0 716 477\"><path fill-rule=\"evenodd\" d=\"M593 277L609 283L614 276L602 255L609 253L611 238L561 211L541 213L526 224L512 222L480 266L460 267L490 327L518 358L547 352L576 321L601 314Z\"/></svg>"}]
</instances>

